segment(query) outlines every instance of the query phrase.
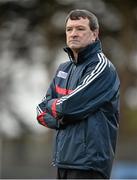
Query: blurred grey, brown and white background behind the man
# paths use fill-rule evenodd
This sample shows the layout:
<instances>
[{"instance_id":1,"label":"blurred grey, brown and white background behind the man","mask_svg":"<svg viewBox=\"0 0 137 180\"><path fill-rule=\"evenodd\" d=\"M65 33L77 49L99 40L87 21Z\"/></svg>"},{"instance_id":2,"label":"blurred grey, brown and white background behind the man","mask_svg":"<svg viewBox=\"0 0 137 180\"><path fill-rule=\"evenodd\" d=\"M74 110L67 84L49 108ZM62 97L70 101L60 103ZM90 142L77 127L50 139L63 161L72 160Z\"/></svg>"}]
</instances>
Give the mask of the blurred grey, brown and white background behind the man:
<instances>
[{"instance_id":1,"label":"blurred grey, brown and white background behind the man","mask_svg":"<svg viewBox=\"0 0 137 180\"><path fill-rule=\"evenodd\" d=\"M121 116L112 178L137 178L137 1L0 0L0 178L55 178L54 131L36 106L57 66L68 60L64 20L74 8L94 12L103 50L121 80Z\"/></svg>"}]
</instances>

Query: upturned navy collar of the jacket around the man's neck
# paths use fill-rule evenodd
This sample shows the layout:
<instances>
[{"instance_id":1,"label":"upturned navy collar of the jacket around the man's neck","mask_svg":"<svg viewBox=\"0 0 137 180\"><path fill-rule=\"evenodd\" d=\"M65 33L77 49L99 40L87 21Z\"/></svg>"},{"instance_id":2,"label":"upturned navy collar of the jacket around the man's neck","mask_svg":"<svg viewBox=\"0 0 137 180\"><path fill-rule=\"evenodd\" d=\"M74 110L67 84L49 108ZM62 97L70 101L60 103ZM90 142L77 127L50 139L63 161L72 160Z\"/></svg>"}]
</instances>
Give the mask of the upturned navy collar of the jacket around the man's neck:
<instances>
[{"instance_id":1,"label":"upturned navy collar of the jacket around the man's neck","mask_svg":"<svg viewBox=\"0 0 137 180\"><path fill-rule=\"evenodd\" d=\"M102 51L101 42L98 39L92 44L89 44L78 53L77 62L75 62L72 50L69 47L64 48L64 51L68 54L69 59L75 63L80 64L91 57L92 54Z\"/></svg>"}]
</instances>

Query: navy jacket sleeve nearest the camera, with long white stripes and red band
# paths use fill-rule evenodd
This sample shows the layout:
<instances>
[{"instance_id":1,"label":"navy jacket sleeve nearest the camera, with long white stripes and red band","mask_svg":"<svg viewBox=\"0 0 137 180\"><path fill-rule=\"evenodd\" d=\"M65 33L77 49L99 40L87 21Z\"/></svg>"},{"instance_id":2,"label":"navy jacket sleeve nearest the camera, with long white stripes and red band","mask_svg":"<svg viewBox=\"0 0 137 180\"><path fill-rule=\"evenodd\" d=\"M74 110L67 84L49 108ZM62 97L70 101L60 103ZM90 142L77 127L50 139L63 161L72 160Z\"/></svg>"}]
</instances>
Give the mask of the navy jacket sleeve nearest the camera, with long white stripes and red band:
<instances>
[{"instance_id":1,"label":"navy jacket sleeve nearest the camera, with long white stripes and red band","mask_svg":"<svg viewBox=\"0 0 137 180\"><path fill-rule=\"evenodd\" d=\"M52 99L47 103L47 109L54 117L63 118L64 121L81 120L103 104L110 103L118 90L119 79L115 68L105 57L101 57L73 92L60 99Z\"/></svg>"}]
</instances>

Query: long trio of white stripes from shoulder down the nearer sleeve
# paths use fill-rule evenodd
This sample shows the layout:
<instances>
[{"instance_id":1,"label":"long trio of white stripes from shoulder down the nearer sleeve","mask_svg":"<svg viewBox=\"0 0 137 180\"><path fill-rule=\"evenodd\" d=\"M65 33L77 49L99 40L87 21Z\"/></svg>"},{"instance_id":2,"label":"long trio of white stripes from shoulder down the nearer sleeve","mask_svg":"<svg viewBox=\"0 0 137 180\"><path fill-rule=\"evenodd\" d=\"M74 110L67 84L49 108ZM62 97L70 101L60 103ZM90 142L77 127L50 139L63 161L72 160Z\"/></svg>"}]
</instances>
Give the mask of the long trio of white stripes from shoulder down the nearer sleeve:
<instances>
[{"instance_id":1,"label":"long trio of white stripes from shoulder down the nearer sleeve","mask_svg":"<svg viewBox=\"0 0 137 180\"><path fill-rule=\"evenodd\" d=\"M88 84L90 84L93 80L95 80L102 73L102 71L107 66L108 60L104 56L103 53L99 53L98 58L99 58L99 63L96 65L95 69L91 72L91 74L87 75L87 77L85 77L83 83L81 85L79 85L74 91L72 91L72 93L70 93L67 96L62 97L59 101L57 101L57 105L61 104L63 101L65 101L68 98L75 95L77 92L79 92L84 87L86 87Z\"/></svg>"}]
</instances>

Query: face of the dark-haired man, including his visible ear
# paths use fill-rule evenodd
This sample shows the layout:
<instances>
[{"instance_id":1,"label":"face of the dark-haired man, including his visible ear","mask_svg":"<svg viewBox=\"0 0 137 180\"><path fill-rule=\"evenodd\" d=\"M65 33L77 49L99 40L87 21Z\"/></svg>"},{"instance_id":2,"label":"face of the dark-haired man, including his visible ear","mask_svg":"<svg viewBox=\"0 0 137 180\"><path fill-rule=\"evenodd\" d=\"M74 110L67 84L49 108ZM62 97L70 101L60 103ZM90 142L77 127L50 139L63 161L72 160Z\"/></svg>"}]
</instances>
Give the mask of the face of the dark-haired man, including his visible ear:
<instances>
[{"instance_id":1,"label":"face of the dark-haired man, including his visible ear","mask_svg":"<svg viewBox=\"0 0 137 180\"><path fill-rule=\"evenodd\" d=\"M93 43L98 36L98 31L92 31L87 18L79 20L68 19L66 24L66 43L73 52Z\"/></svg>"}]
</instances>

